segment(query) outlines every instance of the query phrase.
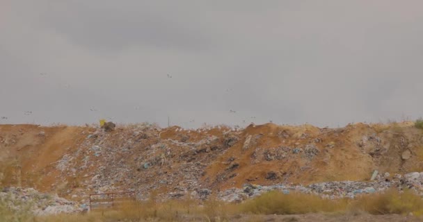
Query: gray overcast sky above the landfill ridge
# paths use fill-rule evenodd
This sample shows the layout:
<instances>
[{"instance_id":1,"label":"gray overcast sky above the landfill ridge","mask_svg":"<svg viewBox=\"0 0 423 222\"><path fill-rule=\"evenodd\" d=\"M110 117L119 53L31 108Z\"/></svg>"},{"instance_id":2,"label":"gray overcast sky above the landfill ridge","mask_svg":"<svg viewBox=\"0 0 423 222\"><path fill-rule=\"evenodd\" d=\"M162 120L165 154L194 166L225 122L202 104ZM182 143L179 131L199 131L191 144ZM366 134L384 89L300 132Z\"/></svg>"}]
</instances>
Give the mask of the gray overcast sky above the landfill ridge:
<instances>
[{"instance_id":1,"label":"gray overcast sky above the landfill ridge","mask_svg":"<svg viewBox=\"0 0 423 222\"><path fill-rule=\"evenodd\" d=\"M0 0L0 123L342 126L422 86L421 0Z\"/></svg>"}]
</instances>

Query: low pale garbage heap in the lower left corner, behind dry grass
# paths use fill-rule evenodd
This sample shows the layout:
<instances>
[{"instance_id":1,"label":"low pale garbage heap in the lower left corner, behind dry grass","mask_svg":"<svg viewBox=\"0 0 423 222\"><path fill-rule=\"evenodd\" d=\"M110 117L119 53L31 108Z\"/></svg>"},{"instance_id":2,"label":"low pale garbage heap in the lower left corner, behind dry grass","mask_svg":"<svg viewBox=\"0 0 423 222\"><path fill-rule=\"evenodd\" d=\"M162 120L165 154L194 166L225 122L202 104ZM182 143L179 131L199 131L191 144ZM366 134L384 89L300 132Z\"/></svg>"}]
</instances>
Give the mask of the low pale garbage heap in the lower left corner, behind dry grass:
<instances>
[{"instance_id":1,"label":"low pale garbage heap in the lower left corner, behind dry grass","mask_svg":"<svg viewBox=\"0 0 423 222\"><path fill-rule=\"evenodd\" d=\"M57 194L42 194L33 188L4 188L0 191L0 200L14 212L33 212L39 216L76 213L86 208L77 202L59 198Z\"/></svg>"}]
</instances>

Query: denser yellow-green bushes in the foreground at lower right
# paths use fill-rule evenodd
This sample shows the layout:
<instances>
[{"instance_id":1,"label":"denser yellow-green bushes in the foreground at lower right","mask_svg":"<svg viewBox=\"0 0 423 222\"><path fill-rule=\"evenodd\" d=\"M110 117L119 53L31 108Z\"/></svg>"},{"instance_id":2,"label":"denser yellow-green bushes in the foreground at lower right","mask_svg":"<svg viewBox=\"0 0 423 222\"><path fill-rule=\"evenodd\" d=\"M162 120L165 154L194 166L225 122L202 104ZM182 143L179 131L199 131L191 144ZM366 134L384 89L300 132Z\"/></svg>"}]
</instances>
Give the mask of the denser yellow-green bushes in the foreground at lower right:
<instances>
[{"instance_id":1,"label":"denser yellow-green bushes in the foreground at lower right","mask_svg":"<svg viewBox=\"0 0 423 222\"><path fill-rule=\"evenodd\" d=\"M367 212L369 214L423 215L423 199L414 191L390 189L381 194L359 196L354 200L329 200L312 194L282 194L271 191L240 205L253 214L307 214L317 212Z\"/></svg>"}]
</instances>

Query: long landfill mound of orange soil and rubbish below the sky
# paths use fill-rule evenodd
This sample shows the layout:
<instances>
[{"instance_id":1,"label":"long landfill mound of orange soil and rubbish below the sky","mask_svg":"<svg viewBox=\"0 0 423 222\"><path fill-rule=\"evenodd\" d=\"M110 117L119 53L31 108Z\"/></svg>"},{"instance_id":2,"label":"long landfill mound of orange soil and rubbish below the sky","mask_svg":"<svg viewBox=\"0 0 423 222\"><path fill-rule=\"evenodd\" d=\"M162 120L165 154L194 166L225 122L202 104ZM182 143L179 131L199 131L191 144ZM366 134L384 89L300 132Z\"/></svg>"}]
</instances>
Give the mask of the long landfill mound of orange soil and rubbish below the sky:
<instances>
[{"instance_id":1,"label":"long landfill mound of orange soil and rubbish below the sky","mask_svg":"<svg viewBox=\"0 0 423 222\"><path fill-rule=\"evenodd\" d=\"M0 125L0 186L85 202L88 194L110 191L136 191L141 199L153 191L162 199L204 199L244 192L248 185L366 182L375 170L379 176L420 172L422 145L423 130L412 122L195 130L148 123L111 130Z\"/></svg>"}]
</instances>

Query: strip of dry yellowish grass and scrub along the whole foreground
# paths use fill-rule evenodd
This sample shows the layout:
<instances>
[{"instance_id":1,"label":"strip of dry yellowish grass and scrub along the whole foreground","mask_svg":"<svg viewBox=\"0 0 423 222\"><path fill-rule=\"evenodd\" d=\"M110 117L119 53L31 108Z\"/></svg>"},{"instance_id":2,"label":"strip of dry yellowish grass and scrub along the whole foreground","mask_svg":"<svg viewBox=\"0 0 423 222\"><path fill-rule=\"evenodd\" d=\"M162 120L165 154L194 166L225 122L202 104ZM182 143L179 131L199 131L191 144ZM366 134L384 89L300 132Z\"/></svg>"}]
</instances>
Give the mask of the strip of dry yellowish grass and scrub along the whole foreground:
<instances>
[{"instance_id":1,"label":"strip of dry yellowish grass and scrub along the whole foreground","mask_svg":"<svg viewBox=\"0 0 423 222\"><path fill-rule=\"evenodd\" d=\"M2 207L3 206L3 207ZM400 193L388 190L383 194L364 195L355 200L328 200L311 194L282 194L271 191L241 204L223 203L211 198L204 203L186 198L157 203L154 200L132 202L122 206L121 210L94 211L88 214L31 216L21 210L10 212L0 205L0 221L207 221L224 222L248 214L250 221L257 221L260 214L409 214L423 215L423 200L413 191ZM20 215L20 217L19 217Z\"/></svg>"}]
</instances>

